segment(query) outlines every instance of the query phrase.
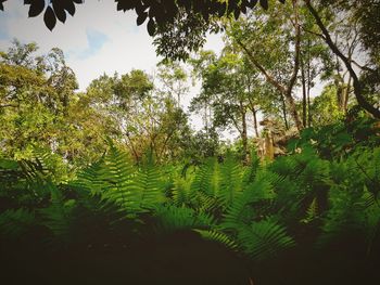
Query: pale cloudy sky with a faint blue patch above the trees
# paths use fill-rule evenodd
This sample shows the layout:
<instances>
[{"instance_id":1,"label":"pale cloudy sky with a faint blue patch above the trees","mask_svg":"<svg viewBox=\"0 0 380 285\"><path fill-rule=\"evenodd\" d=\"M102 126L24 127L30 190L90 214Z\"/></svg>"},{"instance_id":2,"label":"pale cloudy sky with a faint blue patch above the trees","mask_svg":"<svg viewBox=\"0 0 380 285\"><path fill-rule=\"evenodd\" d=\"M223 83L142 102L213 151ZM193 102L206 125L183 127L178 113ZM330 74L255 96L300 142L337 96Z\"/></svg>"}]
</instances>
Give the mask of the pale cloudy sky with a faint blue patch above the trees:
<instances>
[{"instance_id":1,"label":"pale cloudy sky with a faint blue patch above the trees","mask_svg":"<svg viewBox=\"0 0 380 285\"><path fill-rule=\"evenodd\" d=\"M117 11L114 1L88 0L76 5L74 17L67 15L65 24L58 22L53 31L45 26L42 15L28 17L28 5L23 2L5 1L4 12L0 11L0 50L7 50L14 38L23 43L37 42L41 54L60 48L77 76L79 91L104 73L142 69L152 75L162 60L155 54L147 23L137 26L136 13ZM207 36L204 49L218 53L221 48L220 35ZM185 109L198 92L199 85L190 87L189 95L181 102ZM200 117L191 116L190 120L195 129L202 128Z\"/></svg>"}]
</instances>

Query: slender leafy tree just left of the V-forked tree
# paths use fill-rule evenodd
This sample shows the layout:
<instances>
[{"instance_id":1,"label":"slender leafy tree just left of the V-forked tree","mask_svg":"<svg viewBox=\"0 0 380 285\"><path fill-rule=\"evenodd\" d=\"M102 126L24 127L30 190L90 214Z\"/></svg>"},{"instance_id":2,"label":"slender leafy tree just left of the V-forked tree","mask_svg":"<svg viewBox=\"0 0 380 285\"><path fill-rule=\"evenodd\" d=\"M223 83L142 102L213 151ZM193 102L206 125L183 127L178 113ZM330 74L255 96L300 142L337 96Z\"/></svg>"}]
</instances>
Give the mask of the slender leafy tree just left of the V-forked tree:
<instances>
[{"instance_id":1,"label":"slender leafy tree just left of the V-forked tree","mask_svg":"<svg viewBox=\"0 0 380 285\"><path fill-rule=\"evenodd\" d=\"M219 57L213 52L201 52L192 60L192 65L202 80L202 89L192 100L191 109L205 113L206 129L232 127L237 130L242 140L242 157L246 158L249 127L253 127L258 135L261 92L256 74L242 54L231 52L230 46Z\"/></svg>"}]
</instances>

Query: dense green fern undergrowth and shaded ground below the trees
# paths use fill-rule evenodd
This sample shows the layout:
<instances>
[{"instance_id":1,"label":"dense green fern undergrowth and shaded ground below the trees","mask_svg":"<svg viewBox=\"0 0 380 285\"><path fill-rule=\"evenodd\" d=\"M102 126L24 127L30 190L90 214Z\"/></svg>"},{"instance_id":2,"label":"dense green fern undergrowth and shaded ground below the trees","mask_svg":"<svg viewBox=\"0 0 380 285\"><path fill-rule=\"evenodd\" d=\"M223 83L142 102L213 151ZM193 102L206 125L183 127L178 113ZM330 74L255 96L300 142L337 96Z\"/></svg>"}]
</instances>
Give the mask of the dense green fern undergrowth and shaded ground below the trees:
<instances>
[{"instance_id":1,"label":"dense green fern undergrowth and shaded ground below the trees","mask_svg":"<svg viewBox=\"0 0 380 285\"><path fill-rule=\"evenodd\" d=\"M61 179L47 152L0 160L7 284L371 284L376 121L305 129L287 155L140 164L109 143Z\"/></svg>"}]
</instances>

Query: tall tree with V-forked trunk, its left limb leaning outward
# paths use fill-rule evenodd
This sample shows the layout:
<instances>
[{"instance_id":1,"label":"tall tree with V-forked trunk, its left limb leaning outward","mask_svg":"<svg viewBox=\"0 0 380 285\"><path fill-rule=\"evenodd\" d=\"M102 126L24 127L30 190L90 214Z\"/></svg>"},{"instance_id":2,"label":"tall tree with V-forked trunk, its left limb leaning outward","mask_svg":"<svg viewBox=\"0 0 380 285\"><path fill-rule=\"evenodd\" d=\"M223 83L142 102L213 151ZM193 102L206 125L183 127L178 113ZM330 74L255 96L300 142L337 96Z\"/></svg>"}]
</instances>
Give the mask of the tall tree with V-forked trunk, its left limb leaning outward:
<instances>
[{"instance_id":1,"label":"tall tree with V-forked trunk, its left limb leaning outward","mask_svg":"<svg viewBox=\"0 0 380 285\"><path fill-rule=\"evenodd\" d=\"M268 13L253 11L240 21L229 22L227 34L245 52L252 65L284 96L293 121L301 130L303 125L293 98L301 54L299 13L295 0L280 9L273 7ZM264 54L265 50L270 50L270 55Z\"/></svg>"}]
</instances>

